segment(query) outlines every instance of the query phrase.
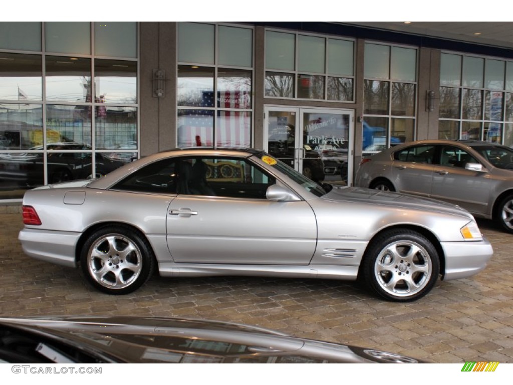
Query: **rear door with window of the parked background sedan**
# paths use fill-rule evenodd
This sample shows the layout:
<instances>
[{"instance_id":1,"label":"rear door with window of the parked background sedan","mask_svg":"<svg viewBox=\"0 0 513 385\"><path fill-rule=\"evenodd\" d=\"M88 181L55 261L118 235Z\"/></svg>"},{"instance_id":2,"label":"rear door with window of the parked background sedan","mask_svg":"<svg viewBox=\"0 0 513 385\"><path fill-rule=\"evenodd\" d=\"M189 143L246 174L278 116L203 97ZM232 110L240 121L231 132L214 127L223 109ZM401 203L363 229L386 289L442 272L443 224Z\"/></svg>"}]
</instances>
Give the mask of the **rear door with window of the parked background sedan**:
<instances>
[{"instance_id":1,"label":"rear door with window of the parked background sedan","mask_svg":"<svg viewBox=\"0 0 513 385\"><path fill-rule=\"evenodd\" d=\"M405 194L428 197L433 176L435 146L423 144L393 153L392 183Z\"/></svg>"}]
</instances>

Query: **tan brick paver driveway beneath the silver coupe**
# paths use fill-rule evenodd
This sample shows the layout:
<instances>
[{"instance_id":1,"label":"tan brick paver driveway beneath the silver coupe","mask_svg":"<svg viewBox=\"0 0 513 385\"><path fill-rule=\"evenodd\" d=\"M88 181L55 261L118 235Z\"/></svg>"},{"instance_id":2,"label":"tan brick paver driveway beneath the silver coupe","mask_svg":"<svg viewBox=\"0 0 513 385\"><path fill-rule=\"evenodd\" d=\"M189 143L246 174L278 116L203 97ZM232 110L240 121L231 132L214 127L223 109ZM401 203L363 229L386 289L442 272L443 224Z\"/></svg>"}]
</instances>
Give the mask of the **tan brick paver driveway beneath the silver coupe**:
<instances>
[{"instance_id":1,"label":"tan brick paver driveway beneath the silver coupe","mask_svg":"<svg viewBox=\"0 0 513 385\"><path fill-rule=\"evenodd\" d=\"M513 235L479 222L495 249L484 272L438 282L413 303L356 283L271 278L153 277L135 293L93 290L78 269L25 256L21 214L0 214L0 315L144 315L242 322L431 362L513 363Z\"/></svg>"}]
</instances>

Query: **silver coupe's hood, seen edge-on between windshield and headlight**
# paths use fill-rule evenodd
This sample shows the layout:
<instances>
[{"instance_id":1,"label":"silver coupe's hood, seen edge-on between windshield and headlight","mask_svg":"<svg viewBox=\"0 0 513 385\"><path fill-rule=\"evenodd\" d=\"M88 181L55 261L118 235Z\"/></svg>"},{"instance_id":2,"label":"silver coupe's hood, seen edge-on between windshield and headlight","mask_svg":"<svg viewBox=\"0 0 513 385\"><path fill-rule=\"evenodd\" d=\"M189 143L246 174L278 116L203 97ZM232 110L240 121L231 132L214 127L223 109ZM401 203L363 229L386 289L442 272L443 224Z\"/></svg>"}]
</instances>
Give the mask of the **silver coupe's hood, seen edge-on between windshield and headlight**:
<instances>
[{"instance_id":1,"label":"silver coupe's hood, seen edge-on between windshield and headlight","mask_svg":"<svg viewBox=\"0 0 513 385\"><path fill-rule=\"evenodd\" d=\"M473 219L472 215L460 206L438 201L436 199L401 194L399 192L382 191L363 187L333 186L333 189L322 198L331 201L373 203L388 205L391 207L437 211L439 213L448 213L467 217L469 220Z\"/></svg>"}]
</instances>

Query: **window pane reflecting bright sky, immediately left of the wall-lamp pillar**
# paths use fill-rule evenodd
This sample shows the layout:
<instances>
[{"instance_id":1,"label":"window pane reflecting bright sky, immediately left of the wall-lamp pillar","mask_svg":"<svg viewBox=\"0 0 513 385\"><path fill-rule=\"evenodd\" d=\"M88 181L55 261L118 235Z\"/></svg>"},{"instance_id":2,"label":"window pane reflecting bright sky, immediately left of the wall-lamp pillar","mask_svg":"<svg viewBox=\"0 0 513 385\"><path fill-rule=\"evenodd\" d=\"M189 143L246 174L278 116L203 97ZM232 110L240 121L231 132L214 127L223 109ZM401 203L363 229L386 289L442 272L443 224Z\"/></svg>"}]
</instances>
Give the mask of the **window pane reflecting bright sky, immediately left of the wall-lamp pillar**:
<instances>
[{"instance_id":1,"label":"window pane reflecting bright sky, immediately left of the wall-lamp pillar","mask_svg":"<svg viewBox=\"0 0 513 385\"><path fill-rule=\"evenodd\" d=\"M97 103L137 103L137 62L96 59L94 82Z\"/></svg>"}]
</instances>

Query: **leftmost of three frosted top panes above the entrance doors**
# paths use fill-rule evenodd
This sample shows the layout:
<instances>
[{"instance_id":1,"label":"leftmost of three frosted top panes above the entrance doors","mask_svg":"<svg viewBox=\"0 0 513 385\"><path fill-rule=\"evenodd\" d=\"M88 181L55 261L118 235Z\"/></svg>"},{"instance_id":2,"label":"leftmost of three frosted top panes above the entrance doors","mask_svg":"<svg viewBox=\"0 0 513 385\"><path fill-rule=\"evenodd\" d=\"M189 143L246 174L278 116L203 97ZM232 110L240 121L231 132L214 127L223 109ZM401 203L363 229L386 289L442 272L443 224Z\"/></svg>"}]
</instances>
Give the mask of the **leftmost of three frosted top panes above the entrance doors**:
<instances>
[{"instance_id":1,"label":"leftmost of three frosted top panes above the entrance doors","mask_svg":"<svg viewBox=\"0 0 513 385\"><path fill-rule=\"evenodd\" d=\"M295 34L266 31L265 67L274 70L295 69Z\"/></svg>"}]
</instances>

